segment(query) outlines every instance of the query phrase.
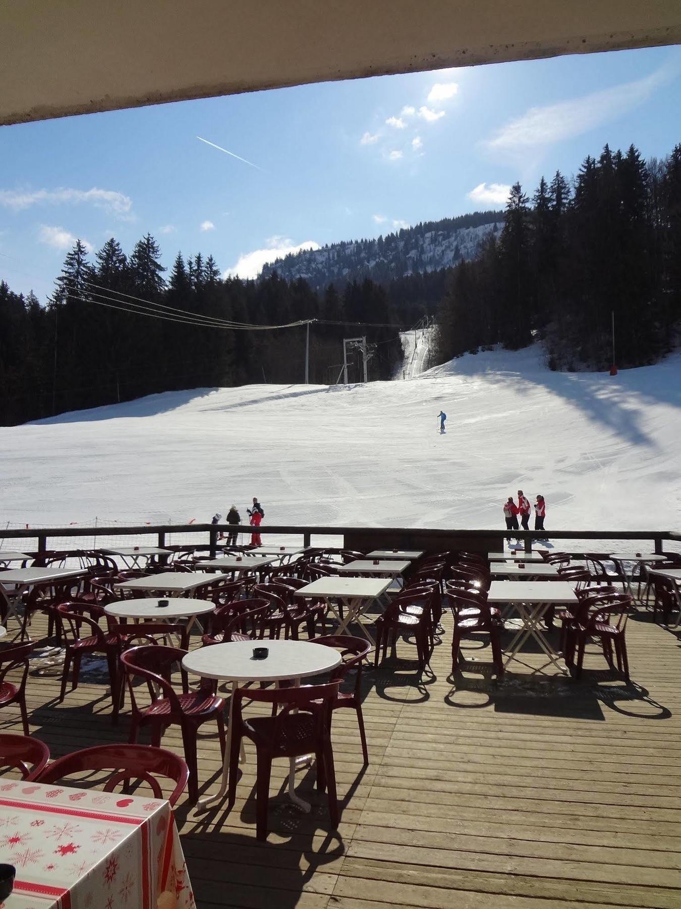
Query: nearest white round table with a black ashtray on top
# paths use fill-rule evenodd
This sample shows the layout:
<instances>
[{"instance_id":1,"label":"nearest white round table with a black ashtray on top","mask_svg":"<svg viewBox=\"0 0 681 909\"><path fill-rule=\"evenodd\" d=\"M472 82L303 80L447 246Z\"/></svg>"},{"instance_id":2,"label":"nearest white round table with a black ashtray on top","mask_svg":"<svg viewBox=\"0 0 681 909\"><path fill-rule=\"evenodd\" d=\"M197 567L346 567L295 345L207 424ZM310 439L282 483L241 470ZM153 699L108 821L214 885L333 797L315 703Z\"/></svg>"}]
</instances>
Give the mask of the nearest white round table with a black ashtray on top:
<instances>
[{"instance_id":1,"label":"nearest white round table with a black ashtray on top","mask_svg":"<svg viewBox=\"0 0 681 909\"><path fill-rule=\"evenodd\" d=\"M254 647L267 647L268 655L263 660L253 659ZM232 741L232 704L234 693L244 682L283 682L300 684L302 678L329 672L341 664L341 654L333 647L311 644L308 641L232 641L228 644L211 644L192 650L183 658L183 668L188 673L202 678L232 682L230 718L227 726L227 746L222 762L222 783L220 792L199 800L200 805L209 804L222 798L227 792L230 771L230 745ZM242 761L245 754L242 747ZM289 769L289 796L291 802L303 811L310 811L310 804L299 798L294 791L296 759L291 757Z\"/></svg>"}]
</instances>

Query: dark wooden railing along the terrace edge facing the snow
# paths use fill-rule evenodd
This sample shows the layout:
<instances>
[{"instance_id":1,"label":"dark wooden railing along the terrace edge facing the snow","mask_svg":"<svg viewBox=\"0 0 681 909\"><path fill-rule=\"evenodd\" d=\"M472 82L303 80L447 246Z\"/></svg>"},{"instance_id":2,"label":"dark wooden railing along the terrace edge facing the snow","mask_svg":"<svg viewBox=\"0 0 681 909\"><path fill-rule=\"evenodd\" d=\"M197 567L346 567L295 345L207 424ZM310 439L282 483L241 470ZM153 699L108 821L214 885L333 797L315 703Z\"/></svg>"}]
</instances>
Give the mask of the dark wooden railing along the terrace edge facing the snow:
<instances>
[{"instance_id":1,"label":"dark wooden railing along the terrace edge facing the snow","mask_svg":"<svg viewBox=\"0 0 681 909\"><path fill-rule=\"evenodd\" d=\"M239 525L240 533L249 533L250 528L247 525ZM40 528L22 528L22 529L5 529L0 530L0 540L2 539L37 539L37 549L30 553L35 557L40 557L51 547L48 545L50 539L59 537L78 537L88 536L96 540L96 537L104 536L142 536L153 534L156 536L156 542L159 546L165 546L166 534L197 534L196 544L208 545L211 554L214 554L219 548L218 536L228 534L233 530L231 524L142 524L129 526L114 527L40 527ZM263 524L258 528L258 533L266 534L287 534L301 537L301 544L309 546L312 536L341 536L343 546L347 549L357 551L368 551L370 549L419 549L430 552L443 552L453 549L463 549L470 552L487 553L489 551L502 550L504 538L508 534L505 529L494 530L449 530L442 527L422 528L422 527L332 527L332 526L299 526L291 524ZM655 552L661 553L664 549L664 541L669 540L675 543L681 541L681 534L668 530L518 530L513 531L512 536L524 541L526 551L532 546L532 541L538 537L556 540L649 540L655 546ZM79 548L74 545L74 549ZM94 548L88 545L84 548ZM183 547L178 547L183 548ZM64 550L62 549L60 551ZM593 552L597 552L597 545L592 547ZM2 550L0 549L0 554Z\"/></svg>"}]
</instances>

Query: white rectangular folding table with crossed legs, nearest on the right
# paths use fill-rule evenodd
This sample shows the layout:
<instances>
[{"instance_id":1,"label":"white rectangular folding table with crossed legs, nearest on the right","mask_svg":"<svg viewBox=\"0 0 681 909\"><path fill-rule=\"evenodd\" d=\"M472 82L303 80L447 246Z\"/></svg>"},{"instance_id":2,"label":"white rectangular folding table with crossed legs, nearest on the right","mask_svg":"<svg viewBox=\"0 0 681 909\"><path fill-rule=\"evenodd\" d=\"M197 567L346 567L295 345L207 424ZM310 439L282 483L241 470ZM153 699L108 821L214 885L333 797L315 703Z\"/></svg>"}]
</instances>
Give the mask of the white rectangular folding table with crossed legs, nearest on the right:
<instances>
[{"instance_id":1,"label":"white rectangular folding table with crossed legs, nearest on the right","mask_svg":"<svg viewBox=\"0 0 681 909\"><path fill-rule=\"evenodd\" d=\"M505 651L507 655L504 665L508 665L511 660L523 663L518 659L518 652L528 638L533 637L548 656L548 663L538 669L530 667L532 671L542 672L548 665L553 664L558 672L568 673L568 669L558 663L558 653L539 627L550 605L577 603L577 594L567 581L492 581L489 586L488 603L513 604L522 620L522 627L511 639Z\"/></svg>"}]
</instances>

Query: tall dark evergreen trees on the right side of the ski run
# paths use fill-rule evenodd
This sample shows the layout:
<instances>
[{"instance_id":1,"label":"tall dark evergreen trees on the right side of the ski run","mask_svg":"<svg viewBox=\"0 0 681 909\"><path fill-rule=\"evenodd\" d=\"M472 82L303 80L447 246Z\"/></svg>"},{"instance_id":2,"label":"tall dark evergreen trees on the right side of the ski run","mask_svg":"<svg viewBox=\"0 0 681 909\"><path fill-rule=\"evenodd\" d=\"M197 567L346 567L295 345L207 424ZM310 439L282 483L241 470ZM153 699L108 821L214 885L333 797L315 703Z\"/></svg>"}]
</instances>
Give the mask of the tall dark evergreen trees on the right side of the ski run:
<instances>
[{"instance_id":1,"label":"tall dark evergreen trees on the right side of the ski run","mask_svg":"<svg viewBox=\"0 0 681 909\"><path fill-rule=\"evenodd\" d=\"M646 365L679 320L681 145L647 162L606 145L571 182L542 177L531 200L511 188L501 231L448 276L439 359L541 340L551 369Z\"/></svg>"}]
</instances>

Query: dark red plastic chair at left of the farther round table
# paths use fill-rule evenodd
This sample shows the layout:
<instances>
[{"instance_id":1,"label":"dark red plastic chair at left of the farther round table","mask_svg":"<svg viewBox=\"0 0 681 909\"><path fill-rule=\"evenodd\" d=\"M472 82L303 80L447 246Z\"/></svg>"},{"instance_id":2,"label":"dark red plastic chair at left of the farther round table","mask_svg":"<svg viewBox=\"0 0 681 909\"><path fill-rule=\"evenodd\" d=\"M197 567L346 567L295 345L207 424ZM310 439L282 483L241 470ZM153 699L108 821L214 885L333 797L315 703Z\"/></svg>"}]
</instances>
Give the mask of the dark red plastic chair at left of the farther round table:
<instances>
[{"instance_id":1,"label":"dark red plastic chair at left of the farther round table","mask_svg":"<svg viewBox=\"0 0 681 909\"><path fill-rule=\"evenodd\" d=\"M62 671L62 687L59 693L59 702L64 700L66 682L68 681L71 664L74 664L71 690L78 687L81 672L81 660L84 654L104 654L109 668L109 683L114 705L118 691L118 653L120 650L119 638L109 631L104 632L98 620L105 618L104 607L95 603L62 603L56 608L62 626L62 634L66 642L64 654L64 669ZM86 634L83 634L83 631Z\"/></svg>"}]
</instances>

